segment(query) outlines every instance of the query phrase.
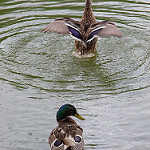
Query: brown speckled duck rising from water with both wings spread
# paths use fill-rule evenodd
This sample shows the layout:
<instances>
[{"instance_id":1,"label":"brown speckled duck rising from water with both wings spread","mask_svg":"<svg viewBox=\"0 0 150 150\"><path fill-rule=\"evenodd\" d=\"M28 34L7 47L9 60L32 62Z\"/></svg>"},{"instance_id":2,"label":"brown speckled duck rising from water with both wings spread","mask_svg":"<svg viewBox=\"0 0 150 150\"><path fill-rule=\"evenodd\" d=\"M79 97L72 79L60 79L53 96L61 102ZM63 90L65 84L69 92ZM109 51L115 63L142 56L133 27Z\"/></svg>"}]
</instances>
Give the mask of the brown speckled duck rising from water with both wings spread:
<instances>
[{"instance_id":1,"label":"brown speckled duck rising from water with both wings spread","mask_svg":"<svg viewBox=\"0 0 150 150\"><path fill-rule=\"evenodd\" d=\"M117 36L122 34L116 25L109 21L96 22L92 12L92 0L86 0L81 21L68 17L58 18L43 29L44 32L70 34L75 39L76 57L93 57L98 37Z\"/></svg>"}]
</instances>

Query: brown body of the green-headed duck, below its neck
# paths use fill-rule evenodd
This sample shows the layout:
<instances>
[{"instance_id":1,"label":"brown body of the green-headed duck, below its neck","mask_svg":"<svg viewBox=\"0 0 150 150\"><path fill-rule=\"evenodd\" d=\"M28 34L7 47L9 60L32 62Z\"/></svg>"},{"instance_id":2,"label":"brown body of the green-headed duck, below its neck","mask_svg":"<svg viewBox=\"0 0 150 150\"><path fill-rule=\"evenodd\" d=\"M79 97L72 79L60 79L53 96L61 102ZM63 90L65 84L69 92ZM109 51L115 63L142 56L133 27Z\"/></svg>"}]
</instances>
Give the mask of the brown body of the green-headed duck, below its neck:
<instances>
[{"instance_id":1,"label":"brown body of the green-headed duck, below its neck","mask_svg":"<svg viewBox=\"0 0 150 150\"><path fill-rule=\"evenodd\" d=\"M82 128L78 125L56 127L49 136L51 150L83 150Z\"/></svg>"}]
</instances>

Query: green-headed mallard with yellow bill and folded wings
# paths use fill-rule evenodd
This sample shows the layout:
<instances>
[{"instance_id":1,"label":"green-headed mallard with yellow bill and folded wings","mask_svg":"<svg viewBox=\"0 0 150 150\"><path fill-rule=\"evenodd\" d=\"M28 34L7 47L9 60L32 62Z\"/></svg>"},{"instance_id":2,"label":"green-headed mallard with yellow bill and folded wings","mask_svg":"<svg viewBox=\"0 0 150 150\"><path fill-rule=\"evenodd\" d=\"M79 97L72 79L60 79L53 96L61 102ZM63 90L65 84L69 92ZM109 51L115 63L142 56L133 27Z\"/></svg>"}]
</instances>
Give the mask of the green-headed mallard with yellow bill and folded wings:
<instances>
[{"instance_id":1,"label":"green-headed mallard with yellow bill and folded wings","mask_svg":"<svg viewBox=\"0 0 150 150\"><path fill-rule=\"evenodd\" d=\"M58 126L52 130L49 136L51 150L83 150L83 129L69 116L75 116L84 120L76 108L71 104L61 106L56 118Z\"/></svg>"}]
</instances>

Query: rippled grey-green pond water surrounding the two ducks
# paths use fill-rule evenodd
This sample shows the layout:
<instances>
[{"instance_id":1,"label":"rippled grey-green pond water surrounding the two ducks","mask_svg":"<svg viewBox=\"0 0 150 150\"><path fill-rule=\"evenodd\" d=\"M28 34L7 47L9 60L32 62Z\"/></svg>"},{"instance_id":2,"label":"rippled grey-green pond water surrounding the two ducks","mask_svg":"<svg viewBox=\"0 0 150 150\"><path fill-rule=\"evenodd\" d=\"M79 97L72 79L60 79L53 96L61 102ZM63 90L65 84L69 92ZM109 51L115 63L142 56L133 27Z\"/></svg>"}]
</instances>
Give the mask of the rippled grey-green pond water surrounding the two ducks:
<instances>
[{"instance_id":1,"label":"rippled grey-green pond water surrounding the two ducks","mask_svg":"<svg viewBox=\"0 0 150 150\"><path fill-rule=\"evenodd\" d=\"M87 150L150 149L150 2L93 0L97 21L123 38L101 38L95 58L72 56L70 36L41 30L58 17L79 20L84 1L0 2L0 149L48 150L57 109L86 120Z\"/></svg>"}]
</instances>

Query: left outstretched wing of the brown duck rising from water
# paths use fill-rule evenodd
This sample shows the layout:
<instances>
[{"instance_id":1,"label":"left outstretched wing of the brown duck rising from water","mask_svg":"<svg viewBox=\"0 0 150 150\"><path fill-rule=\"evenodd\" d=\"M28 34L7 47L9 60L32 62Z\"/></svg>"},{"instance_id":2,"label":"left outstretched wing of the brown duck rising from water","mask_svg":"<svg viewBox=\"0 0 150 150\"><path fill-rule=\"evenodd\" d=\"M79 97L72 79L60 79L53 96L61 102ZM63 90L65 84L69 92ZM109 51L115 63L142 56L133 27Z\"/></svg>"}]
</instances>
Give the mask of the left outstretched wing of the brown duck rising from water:
<instances>
[{"instance_id":1,"label":"left outstretched wing of the brown duck rising from water","mask_svg":"<svg viewBox=\"0 0 150 150\"><path fill-rule=\"evenodd\" d=\"M43 29L44 32L55 32L59 34L70 34L76 40L81 41L80 23L71 18L60 18Z\"/></svg>"}]
</instances>

